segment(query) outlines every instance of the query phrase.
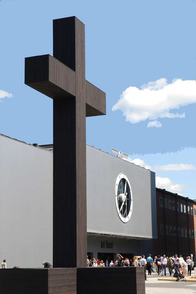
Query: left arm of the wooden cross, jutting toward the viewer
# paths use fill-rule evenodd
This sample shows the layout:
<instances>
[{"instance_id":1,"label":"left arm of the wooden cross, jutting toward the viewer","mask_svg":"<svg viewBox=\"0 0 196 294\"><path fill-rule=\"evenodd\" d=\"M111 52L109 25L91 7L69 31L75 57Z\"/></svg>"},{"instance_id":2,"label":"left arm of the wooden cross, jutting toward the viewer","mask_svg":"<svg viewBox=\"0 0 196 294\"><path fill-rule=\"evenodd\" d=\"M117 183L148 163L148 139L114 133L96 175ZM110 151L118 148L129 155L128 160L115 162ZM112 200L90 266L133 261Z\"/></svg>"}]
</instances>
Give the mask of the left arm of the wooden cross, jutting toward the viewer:
<instances>
[{"instance_id":1,"label":"left arm of the wooden cross, jutting toward the viewer","mask_svg":"<svg viewBox=\"0 0 196 294\"><path fill-rule=\"evenodd\" d=\"M50 98L76 95L76 74L50 54L25 58L25 84Z\"/></svg>"}]
</instances>

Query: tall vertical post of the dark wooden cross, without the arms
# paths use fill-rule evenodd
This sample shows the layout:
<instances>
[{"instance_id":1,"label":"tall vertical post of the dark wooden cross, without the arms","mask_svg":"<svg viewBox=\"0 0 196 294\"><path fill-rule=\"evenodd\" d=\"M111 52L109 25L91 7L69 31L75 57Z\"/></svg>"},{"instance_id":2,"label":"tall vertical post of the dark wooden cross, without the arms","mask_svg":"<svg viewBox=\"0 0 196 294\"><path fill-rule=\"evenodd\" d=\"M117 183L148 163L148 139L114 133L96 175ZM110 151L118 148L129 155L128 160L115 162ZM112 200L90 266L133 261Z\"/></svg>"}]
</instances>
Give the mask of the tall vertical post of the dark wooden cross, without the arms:
<instances>
[{"instance_id":1,"label":"tall vertical post of the dark wooden cross, without the arms","mask_svg":"<svg viewBox=\"0 0 196 294\"><path fill-rule=\"evenodd\" d=\"M84 25L76 17L69 17L54 20L53 28L54 57L76 72L75 98L53 100L53 198L59 199L58 203L54 201L53 206L53 225L57 228L56 231L53 230L53 266L85 267L87 236Z\"/></svg>"}]
</instances>

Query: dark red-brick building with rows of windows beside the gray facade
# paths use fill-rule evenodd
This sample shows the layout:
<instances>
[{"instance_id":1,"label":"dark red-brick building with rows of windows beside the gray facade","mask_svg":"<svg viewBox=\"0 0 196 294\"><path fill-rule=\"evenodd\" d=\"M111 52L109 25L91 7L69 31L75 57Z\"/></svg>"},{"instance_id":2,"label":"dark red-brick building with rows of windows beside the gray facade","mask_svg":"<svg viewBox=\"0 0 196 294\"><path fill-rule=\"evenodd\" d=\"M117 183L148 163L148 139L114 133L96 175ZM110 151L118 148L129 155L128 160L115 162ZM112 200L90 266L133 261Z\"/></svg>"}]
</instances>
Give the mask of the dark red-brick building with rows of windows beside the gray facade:
<instances>
[{"instance_id":1,"label":"dark red-brick building with rows of windows beside the gray facade","mask_svg":"<svg viewBox=\"0 0 196 294\"><path fill-rule=\"evenodd\" d=\"M192 255L195 262L196 201L156 188L156 216L153 255Z\"/></svg>"}]
</instances>

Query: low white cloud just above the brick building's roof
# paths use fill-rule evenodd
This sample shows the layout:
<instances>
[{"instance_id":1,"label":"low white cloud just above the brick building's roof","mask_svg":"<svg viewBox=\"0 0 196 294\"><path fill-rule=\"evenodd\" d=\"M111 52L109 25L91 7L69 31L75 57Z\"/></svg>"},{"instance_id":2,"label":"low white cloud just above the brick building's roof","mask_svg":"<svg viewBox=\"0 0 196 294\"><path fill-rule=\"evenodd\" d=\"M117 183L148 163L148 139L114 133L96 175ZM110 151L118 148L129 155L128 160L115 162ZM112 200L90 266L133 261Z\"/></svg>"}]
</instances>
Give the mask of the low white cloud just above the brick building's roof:
<instances>
[{"instance_id":1,"label":"low white cloud just above the brick building's roof","mask_svg":"<svg viewBox=\"0 0 196 294\"><path fill-rule=\"evenodd\" d=\"M188 187L188 185L175 184L169 178L156 177L155 180L157 188L166 189L167 191L172 193L178 193Z\"/></svg>"}]
</instances>

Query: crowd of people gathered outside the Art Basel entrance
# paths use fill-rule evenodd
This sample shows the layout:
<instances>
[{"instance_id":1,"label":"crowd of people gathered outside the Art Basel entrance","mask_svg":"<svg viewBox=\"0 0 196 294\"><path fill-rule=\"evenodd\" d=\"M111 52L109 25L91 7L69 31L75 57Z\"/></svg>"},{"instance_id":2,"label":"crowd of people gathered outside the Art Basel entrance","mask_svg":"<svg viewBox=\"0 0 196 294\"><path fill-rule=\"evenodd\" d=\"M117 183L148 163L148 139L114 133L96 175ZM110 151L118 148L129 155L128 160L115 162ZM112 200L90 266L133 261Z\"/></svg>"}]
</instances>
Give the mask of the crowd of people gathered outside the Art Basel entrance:
<instances>
[{"instance_id":1,"label":"crowd of people gathered outside the Art Basel entrance","mask_svg":"<svg viewBox=\"0 0 196 294\"><path fill-rule=\"evenodd\" d=\"M172 273L175 272L175 268L178 268L182 271L183 275L186 276L191 275L191 268L194 266L194 263L192 264L192 260L190 259L190 256L187 256L186 261L183 259L183 257L180 255L178 257L177 254L175 256L166 257L166 255L163 256L155 256L154 260L151 257L151 254L145 259L145 255L142 255L139 257L134 256L133 260L128 258L123 258L122 255L117 254L117 258L115 260L111 260L109 263L108 259L106 259L105 263L103 260L95 259L93 260L88 259L87 255L87 267L88 266L108 266L108 267L127 267L127 266L143 266L144 267L144 275L145 280L146 279L146 270L148 271L148 275L151 275L151 273L158 273L158 275L163 274L166 276L166 267L168 268L168 271L170 273L170 276Z\"/></svg>"}]
</instances>

